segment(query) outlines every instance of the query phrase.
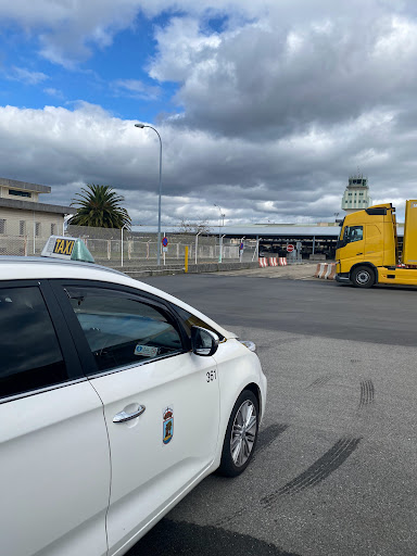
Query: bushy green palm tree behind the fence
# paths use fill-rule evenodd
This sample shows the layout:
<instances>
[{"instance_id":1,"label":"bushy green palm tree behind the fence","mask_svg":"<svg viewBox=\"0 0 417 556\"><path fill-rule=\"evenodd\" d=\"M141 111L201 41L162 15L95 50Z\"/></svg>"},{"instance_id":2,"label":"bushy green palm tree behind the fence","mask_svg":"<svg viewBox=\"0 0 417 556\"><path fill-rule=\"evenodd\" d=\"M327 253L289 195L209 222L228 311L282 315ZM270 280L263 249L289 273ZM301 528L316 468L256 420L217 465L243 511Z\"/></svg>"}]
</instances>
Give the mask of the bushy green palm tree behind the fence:
<instances>
[{"instance_id":1,"label":"bushy green palm tree behind the fence","mask_svg":"<svg viewBox=\"0 0 417 556\"><path fill-rule=\"evenodd\" d=\"M70 218L68 224L119 229L125 226L130 229L130 216L126 208L119 205L124 200L125 198L118 195L110 186L87 184L71 203L72 206L77 205L77 213Z\"/></svg>"}]
</instances>

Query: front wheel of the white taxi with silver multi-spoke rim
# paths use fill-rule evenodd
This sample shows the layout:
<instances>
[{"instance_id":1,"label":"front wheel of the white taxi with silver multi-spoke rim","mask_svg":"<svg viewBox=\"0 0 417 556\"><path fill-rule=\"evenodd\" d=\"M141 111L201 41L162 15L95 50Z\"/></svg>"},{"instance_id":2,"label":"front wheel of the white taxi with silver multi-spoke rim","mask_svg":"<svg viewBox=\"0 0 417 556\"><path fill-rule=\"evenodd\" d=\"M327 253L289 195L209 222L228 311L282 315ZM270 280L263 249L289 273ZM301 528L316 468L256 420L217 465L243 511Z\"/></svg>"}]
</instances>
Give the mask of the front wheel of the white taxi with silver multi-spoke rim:
<instances>
[{"instance_id":1,"label":"front wheel of the white taxi with silver multi-spoke rim","mask_svg":"<svg viewBox=\"0 0 417 556\"><path fill-rule=\"evenodd\" d=\"M239 395L227 425L218 472L237 477L248 467L255 451L260 427L260 404L250 390Z\"/></svg>"}]
</instances>

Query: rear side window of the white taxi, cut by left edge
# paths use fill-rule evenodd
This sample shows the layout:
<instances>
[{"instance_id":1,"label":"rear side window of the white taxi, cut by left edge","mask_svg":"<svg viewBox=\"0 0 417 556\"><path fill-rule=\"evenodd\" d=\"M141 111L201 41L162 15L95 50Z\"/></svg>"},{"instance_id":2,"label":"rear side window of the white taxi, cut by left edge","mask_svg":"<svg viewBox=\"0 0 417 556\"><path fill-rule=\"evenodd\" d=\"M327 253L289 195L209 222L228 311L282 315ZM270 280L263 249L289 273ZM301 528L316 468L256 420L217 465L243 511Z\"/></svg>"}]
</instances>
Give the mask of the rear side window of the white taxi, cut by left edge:
<instances>
[{"instance_id":1,"label":"rear side window of the white taxi, cut by left edge","mask_svg":"<svg viewBox=\"0 0 417 556\"><path fill-rule=\"evenodd\" d=\"M68 380L39 288L0 288L0 397Z\"/></svg>"}]
</instances>

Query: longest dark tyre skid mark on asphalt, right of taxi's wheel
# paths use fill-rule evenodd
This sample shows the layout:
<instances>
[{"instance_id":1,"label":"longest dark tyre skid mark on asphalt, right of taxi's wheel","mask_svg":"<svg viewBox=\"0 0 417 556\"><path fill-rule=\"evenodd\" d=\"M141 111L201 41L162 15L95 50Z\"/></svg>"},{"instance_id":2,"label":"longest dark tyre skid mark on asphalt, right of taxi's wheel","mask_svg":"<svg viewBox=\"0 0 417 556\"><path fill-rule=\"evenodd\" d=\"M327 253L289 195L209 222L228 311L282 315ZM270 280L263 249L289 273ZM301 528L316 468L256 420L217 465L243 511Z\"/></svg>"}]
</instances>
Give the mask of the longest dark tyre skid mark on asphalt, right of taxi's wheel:
<instances>
[{"instance_id":1,"label":"longest dark tyre skid mark on asphalt, right of taxi's wheel","mask_svg":"<svg viewBox=\"0 0 417 556\"><path fill-rule=\"evenodd\" d=\"M295 477L277 491L261 498L261 505L264 508L270 507L280 496L294 495L305 489L316 486L336 471L356 450L361 438L345 437L341 438L317 459L308 469Z\"/></svg>"}]
</instances>

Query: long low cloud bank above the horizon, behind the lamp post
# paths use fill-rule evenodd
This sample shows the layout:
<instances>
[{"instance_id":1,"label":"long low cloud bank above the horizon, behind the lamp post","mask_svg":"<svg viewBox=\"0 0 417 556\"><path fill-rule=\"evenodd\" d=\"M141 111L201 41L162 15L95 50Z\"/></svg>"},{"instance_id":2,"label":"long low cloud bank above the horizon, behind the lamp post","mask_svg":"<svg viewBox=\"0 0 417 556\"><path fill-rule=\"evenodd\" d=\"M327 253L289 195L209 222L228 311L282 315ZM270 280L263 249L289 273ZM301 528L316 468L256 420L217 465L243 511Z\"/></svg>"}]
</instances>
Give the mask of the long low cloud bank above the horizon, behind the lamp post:
<instances>
[{"instance_id":1,"label":"long low cloud bank above the horizon, behind the lamp post","mask_svg":"<svg viewBox=\"0 0 417 556\"><path fill-rule=\"evenodd\" d=\"M163 224L194 214L215 225L214 203L228 222L331 219L358 160L374 198L406 195L416 187L414 142L403 140L400 116L374 111L258 143L163 124ZM79 184L110 185L136 223L155 224L157 137L134 124L86 102L74 110L0 108L1 174L52 186L51 201L63 204Z\"/></svg>"}]
</instances>

